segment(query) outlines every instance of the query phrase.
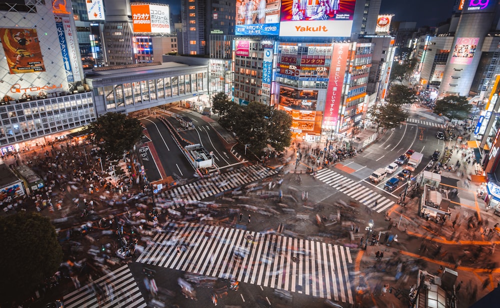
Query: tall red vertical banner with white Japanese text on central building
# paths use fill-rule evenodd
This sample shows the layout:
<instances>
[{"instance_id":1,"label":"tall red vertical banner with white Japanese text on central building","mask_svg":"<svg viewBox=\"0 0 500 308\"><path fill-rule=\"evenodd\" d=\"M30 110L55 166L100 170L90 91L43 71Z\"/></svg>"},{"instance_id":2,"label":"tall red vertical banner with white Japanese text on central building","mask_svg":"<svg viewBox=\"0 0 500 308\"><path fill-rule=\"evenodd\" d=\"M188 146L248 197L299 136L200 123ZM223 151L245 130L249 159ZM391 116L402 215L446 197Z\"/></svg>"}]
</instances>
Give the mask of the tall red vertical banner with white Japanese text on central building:
<instances>
[{"instance_id":1,"label":"tall red vertical banner with white Japanese text on central building","mask_svg":"<svg viewBox=\"0 0 500 308\"><path fill-rule=\"evenodd\" d=\"M338 109L340 107L340 99L342 96L342 84L344 80L345 67L349 44L333 45L331 53L330 73L328 76L328 88L326 89L326 102L324 104L323 123L322 127L331 126L336 128L338 120Z\"/></svg>"}]
</instances>

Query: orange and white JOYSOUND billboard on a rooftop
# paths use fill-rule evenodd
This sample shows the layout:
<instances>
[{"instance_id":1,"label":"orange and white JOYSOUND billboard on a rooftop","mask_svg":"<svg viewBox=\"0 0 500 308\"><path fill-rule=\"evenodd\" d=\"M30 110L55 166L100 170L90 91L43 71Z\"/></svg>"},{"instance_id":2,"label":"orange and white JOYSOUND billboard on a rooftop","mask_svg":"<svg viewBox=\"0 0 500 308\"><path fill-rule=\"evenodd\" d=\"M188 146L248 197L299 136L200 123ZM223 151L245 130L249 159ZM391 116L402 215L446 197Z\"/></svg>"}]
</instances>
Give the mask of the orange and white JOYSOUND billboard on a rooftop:
<instances>
[{"instance_id":1,"label":"orange and white JOYSOUND billboard on a rooftop","mask_svg":"<svg viewBox=\"0 0 500 308\"><path fill-rule=\"evenodd\" d=\"M131 4L134 32L170 33L168 5Z\"/></svg>"}]
</instances>

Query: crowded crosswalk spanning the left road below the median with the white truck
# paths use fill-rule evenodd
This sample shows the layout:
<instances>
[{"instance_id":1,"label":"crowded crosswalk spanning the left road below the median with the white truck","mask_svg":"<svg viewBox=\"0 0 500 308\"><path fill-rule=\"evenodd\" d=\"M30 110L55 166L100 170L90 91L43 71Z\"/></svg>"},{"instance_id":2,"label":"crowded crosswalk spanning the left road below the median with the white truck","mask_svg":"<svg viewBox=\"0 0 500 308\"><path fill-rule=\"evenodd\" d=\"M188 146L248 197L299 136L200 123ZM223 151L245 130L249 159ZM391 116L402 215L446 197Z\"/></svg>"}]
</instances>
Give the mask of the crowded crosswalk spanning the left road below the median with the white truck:
<instances>
[{"instance_id":1,"label":"crowded crosswalk spanning the left road below the median with the white truck","mask_svg":"<svg viewBox=\"0 0 500 308\"><path fill-rule=\"evenodd\" d=\"M261 165L246 166L221 173L212 178L201 179L193 183L175 187L161 193L161 197L166 199L199 201L276 173L276 170L265 168Z\"/></svg>"}]
</instances>

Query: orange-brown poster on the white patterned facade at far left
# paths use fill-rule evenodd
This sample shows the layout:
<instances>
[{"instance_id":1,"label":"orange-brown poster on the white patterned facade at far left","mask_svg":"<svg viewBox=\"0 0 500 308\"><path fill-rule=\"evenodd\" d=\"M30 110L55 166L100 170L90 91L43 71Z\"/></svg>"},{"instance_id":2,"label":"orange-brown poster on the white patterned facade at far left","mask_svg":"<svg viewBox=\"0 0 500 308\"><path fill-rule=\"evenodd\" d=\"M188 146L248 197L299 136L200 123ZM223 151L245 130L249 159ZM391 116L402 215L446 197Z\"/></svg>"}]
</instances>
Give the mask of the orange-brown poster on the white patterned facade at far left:
<instances>
[{"instance_id":1,"label":"orange-brown poster on the white patterned facade at far left","mask_svg":"<svg viewBox=\"0 0 500 308\"><path fill-rule=\"evenodd\" d=\"M10 74L45 71L36 29L0 28Z\"/></svg>"}]
</instances>

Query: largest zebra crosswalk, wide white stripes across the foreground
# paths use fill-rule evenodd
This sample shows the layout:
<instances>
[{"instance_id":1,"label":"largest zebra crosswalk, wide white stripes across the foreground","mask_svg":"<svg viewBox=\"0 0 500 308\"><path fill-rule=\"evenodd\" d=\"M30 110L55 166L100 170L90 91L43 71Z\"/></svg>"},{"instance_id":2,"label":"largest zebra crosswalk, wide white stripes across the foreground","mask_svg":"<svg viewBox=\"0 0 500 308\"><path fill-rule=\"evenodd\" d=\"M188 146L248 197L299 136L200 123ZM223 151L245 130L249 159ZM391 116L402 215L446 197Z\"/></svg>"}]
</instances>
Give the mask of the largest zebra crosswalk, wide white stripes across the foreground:
<instances>
[{"instance_id":1,"label":"largest zebra crosswalk, wide white stripes across the foreground","mask_svg":"<svg viewBox=\"0 0 500 308\"><path fill-rule=\"evenodd\" d=\"M353 303L348 247L194 223L153 242L136 262Z\"/></svg>"}]
</instances>

